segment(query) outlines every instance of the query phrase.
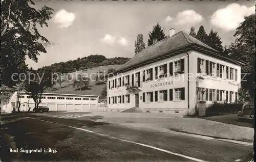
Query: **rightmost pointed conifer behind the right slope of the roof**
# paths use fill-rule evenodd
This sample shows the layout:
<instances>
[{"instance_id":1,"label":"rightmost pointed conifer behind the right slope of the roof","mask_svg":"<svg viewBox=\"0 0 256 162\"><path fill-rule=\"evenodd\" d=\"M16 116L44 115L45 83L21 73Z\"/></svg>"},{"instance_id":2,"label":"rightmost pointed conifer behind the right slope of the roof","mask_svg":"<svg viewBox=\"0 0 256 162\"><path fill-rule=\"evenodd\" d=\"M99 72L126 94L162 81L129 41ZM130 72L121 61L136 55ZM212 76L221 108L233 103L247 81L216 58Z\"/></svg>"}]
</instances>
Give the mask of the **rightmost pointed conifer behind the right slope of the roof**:
<instances>
[{"instance_id":1,"label":"rightmost pointed conifer behind the right slope of the roof","mask_svg":"<svg viewBox=\"0 0 256 162\"><path fill-rule=\"evenodd\" d=\"M211 30L210 33L207 35L206 44L220 52L223 51L221 38L218 33L214 32L213 30Z\"/></svg>"}]
</instances>

